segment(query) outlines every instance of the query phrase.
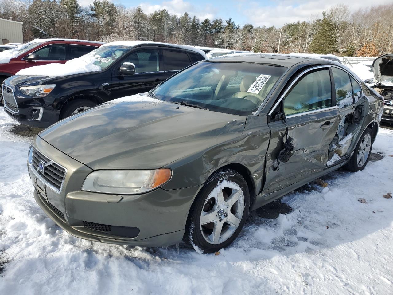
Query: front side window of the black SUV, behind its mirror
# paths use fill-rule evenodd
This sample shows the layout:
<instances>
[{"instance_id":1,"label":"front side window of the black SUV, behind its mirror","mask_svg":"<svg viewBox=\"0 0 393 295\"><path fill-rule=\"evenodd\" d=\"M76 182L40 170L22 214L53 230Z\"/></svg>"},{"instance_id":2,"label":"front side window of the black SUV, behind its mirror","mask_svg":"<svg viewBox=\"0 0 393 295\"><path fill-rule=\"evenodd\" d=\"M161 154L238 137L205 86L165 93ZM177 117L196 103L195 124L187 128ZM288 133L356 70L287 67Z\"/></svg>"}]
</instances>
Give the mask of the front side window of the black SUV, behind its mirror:
<instances>
[{"instance_id":1,"label":"front side window of the black SUV, behind its mirror","mask_svg":"<svg viewBox=\"0 0 393 295\"><path fill-rule=\"evenodd\" d=\"M123 63L133 63L136 73L149 73L160 71L160 58L158 50L143 50L127 56Z\"/></svg>"}]
</instances>

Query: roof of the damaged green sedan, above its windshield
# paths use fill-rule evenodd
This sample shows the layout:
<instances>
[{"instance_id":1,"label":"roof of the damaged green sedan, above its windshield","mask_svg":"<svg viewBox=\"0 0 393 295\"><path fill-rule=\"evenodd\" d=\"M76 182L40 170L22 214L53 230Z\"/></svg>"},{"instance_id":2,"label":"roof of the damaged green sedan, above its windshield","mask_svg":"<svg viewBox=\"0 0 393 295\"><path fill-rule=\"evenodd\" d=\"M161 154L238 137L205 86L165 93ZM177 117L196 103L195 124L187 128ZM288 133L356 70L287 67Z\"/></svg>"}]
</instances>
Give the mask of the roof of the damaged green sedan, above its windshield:
<instances>
[{"instance_id":1,"label":"roof of the damaged green sedan, above its windshield","mask_svg":"<svg viewBox=\"0 0 393 295\"><path fill-rule=\"evenodd\" d=\"M318 62L318 63L327 63L333 64L331 61L322 58L314 58L308 56L297 56L297 55L285 55L285 54L261 54L261 53L240 53L240 54L230 54L223 55L219 57L213 57L208 59L207 61L225 61L225 62L243 62L243 63L261 63L261 64L274 64L278 66L285 66L286 68L290 68L298 63L309 61L310 63Z\"/></svg>"}]
</instances>

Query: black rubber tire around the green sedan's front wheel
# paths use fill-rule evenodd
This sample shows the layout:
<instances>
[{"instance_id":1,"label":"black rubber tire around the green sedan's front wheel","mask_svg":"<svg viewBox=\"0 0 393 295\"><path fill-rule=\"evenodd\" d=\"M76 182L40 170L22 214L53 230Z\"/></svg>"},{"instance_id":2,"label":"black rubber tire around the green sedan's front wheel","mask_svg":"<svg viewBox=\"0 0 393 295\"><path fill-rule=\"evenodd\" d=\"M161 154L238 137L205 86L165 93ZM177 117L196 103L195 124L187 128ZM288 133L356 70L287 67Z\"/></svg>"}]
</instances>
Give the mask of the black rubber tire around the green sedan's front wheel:
<instances>
[{"instance_id":1,"label":"black rubber tire around the green sedan's front wheel","mask_svg":"<svg viewBox=\"0 0 393 295\"><path fill-rule=\"evenodd\" d=\"M240 201L236 202L235 205L231 206L231 208L227 207L225 213L219 212L221 210L217 209L218 210L217 214L215 214L216 213L215 210L208 209L209 212L213 212L213 214L215 214L215 216L217 216L216 218L220 219L222 217L222 219L220 219L220 222L222 220L222 225L221 225L222 231L220 231L220 233L223 233L223 236L225 236L225 235L228 236L228 238L226 238L226 240L224 240L221 243L209 243L205 238L205 236L207 236L206 231L211 230L212 235L214 236L213 228L205 229L205 226L213 227L213 222L208 223L206 225L201 225L200 218L201 218L202 210L204 210L204 212L206 212L205 211L206 209L204 209L204 208L206 208L206 206L212 206L211 203L205 204L205 202L207 200L208 200L208 202L215 202L215 199L213 199L212 197L210 197L208 199L210 193L219 184L222 184L223 181L229 181L231 183L236 183L241 188L243 196L244 196L244 204L243 204L242 197L239 197ZM222 190L224 200L225 201L230 200L230 196L232 194L233 194L233 197L235 197L235 192L237 192L237 191L238 190L231 190L230 188L225 187ZM242 212L241 219L239 217L237 217L237 221L239 221L239 219L240 219L239 225L237 225L237 228L231 227L231 223L228 223L227 221L229 220L229 218L235 216L235 213L233 210L240 210L239 208L241 208L243 205L244 205L244 207L243 207L244 209ZM237 208L237 209L235 209L235 208ZM208 178L208 180L205 182L203 188L200 190L200 192L196 196L196 198L193 202L193 205L191 206L190 212L188 214L183 240L186 243L188 243L189 245L191 245L192 247L194 247L194 249L196 251L201 250L201 251L203 251L203 253L217 252L222 248L228 247L228 245L230 245L237 238L237 236L239 235L239 233L242 230L244 223L246 222L249 210L250 210L250 194L248 191L247 183L244 180L244 178L242 177L242 175L240 173L238 173L237 171L234 171L231 169L219 170L219 171L213 173L213 175L211 175ZM239 211L237 211L237 212L239 212ZM219 214L222 214L222 215L219 216ZM227 215L225 215L225 214L227 214ZM236 214L238 214L238 213L236 213ZM203 228L203 230L202 230L202 228ZM221 236L219 235L219 240L217 240L217 241L219 242L220 239L221 239ZM196 247L198 247L198 248L196 248Z\"/></svg>"}]
</instances>

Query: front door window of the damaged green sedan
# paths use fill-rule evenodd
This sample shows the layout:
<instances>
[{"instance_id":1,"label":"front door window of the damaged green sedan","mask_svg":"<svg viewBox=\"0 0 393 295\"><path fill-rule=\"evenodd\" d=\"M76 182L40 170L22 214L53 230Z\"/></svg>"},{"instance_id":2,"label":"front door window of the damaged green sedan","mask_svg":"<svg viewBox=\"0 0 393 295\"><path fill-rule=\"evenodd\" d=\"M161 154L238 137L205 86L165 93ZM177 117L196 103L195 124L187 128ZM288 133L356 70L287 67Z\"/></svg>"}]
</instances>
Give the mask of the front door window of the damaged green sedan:
<instances>
[{"instance_id":1,"label":"front door window of the damaged green sedan","mask_svg":"<svg viewBox=\"0 0 393 295\"><path fill-rule=\"evenodd\" d=\"M332 87L327 69L303 76L284 97L286 116L331 106Z\"/></svg>"}]
</instances>

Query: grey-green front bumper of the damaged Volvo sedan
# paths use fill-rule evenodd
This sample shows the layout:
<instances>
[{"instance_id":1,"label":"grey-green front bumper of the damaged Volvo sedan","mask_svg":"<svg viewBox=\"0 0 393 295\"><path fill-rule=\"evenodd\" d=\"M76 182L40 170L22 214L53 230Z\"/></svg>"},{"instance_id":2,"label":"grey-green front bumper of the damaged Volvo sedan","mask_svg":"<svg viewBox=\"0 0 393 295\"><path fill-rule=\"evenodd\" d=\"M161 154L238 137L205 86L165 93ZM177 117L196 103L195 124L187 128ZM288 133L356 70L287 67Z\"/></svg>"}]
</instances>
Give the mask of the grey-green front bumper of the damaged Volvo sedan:
<instances>
[{"instance_id":1,"label":"grey-green front bumper of the damaged Volvo sedan","mask_svg":"<svg viewBox=\"0 0 393 295\"><path fill-rule=\"evenodd\" d=\"M34 197L42 210L66 232L103 243L160 247L179 243L198 187L158 188L141 195L110 195L81 191L92 171L36 137L40 153L67 168L60 192L53 191L29 166Z\"/></svg>"}]
</instances>

